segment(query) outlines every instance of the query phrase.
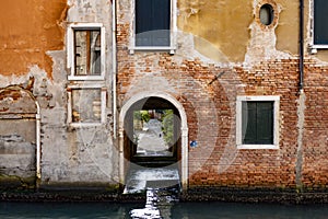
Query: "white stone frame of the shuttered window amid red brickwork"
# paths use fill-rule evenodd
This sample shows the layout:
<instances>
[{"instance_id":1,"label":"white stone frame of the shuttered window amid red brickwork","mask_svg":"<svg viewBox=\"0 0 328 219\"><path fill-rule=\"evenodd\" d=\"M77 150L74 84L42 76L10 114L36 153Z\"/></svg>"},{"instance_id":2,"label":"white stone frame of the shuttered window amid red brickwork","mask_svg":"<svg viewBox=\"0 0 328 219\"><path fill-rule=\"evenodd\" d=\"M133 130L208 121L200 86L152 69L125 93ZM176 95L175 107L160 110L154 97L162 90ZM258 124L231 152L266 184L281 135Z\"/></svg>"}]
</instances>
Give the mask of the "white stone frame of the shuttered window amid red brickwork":
<instances>
[{"instance_id":1,"label":"white stone frame of the shuttered window amid red brickwork","mask_svg":"<svg viewBox=\"0 0 328 219\"><path fill-rule=\"evenodd\" d=\"M273 102L273 145L243 145L242 127L243 113L242 103L244 101L272 101ZM237 149L279 149L279 110L280 96L237 96L236 101L236 145Z\"/></svg>"}]
</instances>

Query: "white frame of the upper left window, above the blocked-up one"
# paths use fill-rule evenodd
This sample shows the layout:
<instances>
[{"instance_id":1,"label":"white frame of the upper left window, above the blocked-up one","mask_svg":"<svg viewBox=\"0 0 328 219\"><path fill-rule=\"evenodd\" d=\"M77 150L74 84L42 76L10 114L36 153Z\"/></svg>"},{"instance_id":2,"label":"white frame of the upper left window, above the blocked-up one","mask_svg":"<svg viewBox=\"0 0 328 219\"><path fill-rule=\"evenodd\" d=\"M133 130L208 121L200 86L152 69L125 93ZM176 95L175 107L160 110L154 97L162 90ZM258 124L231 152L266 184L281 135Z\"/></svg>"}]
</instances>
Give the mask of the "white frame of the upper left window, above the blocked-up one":
<instances>
[{"instance_id":1,"label":"white frame of the upper left window, above the blocked-up one","mask_svg":"<svg viewBox=\"0 0 328 219\"><path fill-rule=\"evenodd\" d=\"M101 30L101 76L75 76L74 59L74 30ZM106 37L105 27L102 23L73 23L68 26L67 32L67 67L71 69L68 80L104 80L106 72Z\"/></svg>"}]
</instances>

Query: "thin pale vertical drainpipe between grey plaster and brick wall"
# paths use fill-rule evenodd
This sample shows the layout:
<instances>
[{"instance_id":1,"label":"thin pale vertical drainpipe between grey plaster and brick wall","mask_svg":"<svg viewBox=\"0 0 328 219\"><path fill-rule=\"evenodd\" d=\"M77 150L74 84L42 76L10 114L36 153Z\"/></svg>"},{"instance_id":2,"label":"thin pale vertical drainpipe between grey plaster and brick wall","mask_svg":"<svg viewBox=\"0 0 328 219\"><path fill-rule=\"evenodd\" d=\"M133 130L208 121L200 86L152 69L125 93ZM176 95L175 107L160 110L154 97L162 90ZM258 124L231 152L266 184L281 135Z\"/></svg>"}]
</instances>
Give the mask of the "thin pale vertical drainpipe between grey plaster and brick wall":
<instances>
[{"instance_id":1,"label":"thin pale vertical drainpipe between grey plaster and brick wall","mask_svg":"<svg viewBox=\"0 0 328 219\"><path fill-rule=\"evenodd\" d=\"M113 46L113 55L112 55L112 71L113 71L113 82L112 82L112 87L113 87L113 135L114 138L116 139L116 120L117 120L117 102L116 102L116 0L113 0L112 3L112 10L113 10L113 14L112 14L112 46Z\"/></svg>"}]
</instances>

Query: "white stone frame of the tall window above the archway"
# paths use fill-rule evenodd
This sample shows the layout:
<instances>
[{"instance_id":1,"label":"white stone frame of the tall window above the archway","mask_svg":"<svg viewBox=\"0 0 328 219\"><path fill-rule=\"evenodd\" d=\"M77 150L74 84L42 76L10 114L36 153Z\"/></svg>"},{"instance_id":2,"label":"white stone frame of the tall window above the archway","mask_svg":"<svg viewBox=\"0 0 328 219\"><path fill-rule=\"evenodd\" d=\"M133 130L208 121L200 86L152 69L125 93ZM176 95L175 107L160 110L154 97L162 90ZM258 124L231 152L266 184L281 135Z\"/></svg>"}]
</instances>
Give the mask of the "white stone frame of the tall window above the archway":
<instances>
[{"instance_id":1,"label":"white stone frame of the tall window above the archway","mask_svg":"<svg viewBox=\"0 0 328 219\"><path fill-rule=\"evenodd\" d=\"M177 0L171 0L171 24L169 24L169 46L136 46L136 0L131 2L131 11L132 16L132 25L130 30L130 45L129 51L130 54L134 54L134 51L169 51L169 54L174 54L176 49L176 18L177 18Z\"/></svg>"}]
</instances>

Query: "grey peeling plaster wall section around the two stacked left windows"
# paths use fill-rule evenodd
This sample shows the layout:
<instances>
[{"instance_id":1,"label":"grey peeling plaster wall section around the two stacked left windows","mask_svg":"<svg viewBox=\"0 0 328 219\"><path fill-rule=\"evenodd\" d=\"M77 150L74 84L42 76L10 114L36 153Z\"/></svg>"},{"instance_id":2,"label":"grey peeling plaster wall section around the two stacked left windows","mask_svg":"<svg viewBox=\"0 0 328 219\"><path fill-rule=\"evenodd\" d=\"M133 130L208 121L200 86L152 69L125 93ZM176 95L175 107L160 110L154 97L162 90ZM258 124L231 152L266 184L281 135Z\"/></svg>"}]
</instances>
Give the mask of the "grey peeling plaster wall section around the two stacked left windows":
<instances>
[{"instance_id":1,"label":"grey peeling plaster wall section around the two stacked left windows","mask_svg":"<svg viewBox=\"0 0 328 219\"><path fill-rule=\"evenodd\" d=\"M42 182L44 186L107 186L118 183L118 155L114 147L112 118L112 3L107 0L71 0L66 24L103 23L106 31L106 76L103 81L67 81L66 51L51 51L54 87L44 106ZM67 47L69 48L69 47ZM106 123L99 126L73 127L68 124L67 88L85 84L106 90ZM87 92L87 90L83 91ZM84 100L83 102L87 102ZM45 102L44 105L47 103ZM92 101L90 100L90 103ZM83 105L81 106L83 107Z\"/></svg>"}]
</instances>

